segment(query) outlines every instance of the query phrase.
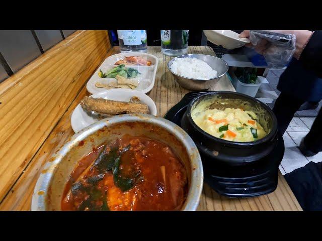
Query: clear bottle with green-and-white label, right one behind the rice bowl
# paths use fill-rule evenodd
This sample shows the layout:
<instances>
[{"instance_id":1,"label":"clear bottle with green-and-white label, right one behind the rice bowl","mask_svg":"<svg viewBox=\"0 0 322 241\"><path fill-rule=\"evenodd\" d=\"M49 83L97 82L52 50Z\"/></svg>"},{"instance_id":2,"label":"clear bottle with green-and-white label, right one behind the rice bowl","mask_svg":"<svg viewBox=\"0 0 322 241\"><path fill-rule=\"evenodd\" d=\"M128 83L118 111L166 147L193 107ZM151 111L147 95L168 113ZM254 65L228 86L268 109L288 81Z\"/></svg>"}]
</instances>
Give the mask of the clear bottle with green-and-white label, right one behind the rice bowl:
<instances>
[{"instance_id":1,"label":"clear bottle with green-and-white label, right one behind the rice bowl","mask_svg":"<svg viewBox=\"0 0 322 241\"><path fill-rule=\"evenodd\" d=\"M179 56L188 52L189 30L161 30L161 51Z\"/></svg>"}]
</instances>

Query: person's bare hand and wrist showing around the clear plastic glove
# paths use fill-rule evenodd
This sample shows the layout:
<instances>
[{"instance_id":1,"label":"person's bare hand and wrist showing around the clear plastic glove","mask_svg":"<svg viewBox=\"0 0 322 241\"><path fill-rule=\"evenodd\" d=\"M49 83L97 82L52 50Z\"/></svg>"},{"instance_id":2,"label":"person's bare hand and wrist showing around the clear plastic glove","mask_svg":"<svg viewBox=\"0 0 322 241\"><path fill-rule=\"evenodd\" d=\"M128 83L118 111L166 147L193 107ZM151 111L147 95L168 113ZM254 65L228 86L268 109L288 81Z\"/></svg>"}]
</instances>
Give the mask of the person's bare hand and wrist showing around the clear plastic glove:
<instances>
[{"instance_id":1,"label":"person's bare hand and wrist showing around the clear plastic glove","mask_svg":"<svg viewBox=\"0 0 322 241\"><path fill-rule=\"evenodd\" d=\"M313 33L309 30L268 30L268 31L274 32L274 33L280 33L280 34L295 34L296 50L293 56L296 59L299 59L303 49L305 48L307 42L309 41ZM249 38L249 37L250 37L249 30L244 30L239 35L239 38ZM262 39L257 45L253 45L252 43L250 43L250 44L246 44L245 46L254 48L261 55L264 55L269 48L268 42L265 39Z\"/></svg>"}]
</instances>

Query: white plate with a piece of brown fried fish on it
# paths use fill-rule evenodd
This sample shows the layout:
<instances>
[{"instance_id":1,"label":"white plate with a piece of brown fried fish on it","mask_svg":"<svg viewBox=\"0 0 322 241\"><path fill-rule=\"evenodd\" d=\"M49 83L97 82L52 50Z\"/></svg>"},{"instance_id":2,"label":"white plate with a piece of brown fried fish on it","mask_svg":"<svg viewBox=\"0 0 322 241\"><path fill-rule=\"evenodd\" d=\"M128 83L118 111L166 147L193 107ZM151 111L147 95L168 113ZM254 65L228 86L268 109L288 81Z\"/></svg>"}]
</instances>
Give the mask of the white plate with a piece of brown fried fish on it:
<instances>
[{"instance_id":1,"label":"white plate with a piece of brown fried fish on it","mask_svg":"<svg viewBox=\"0 0 322 241\"><path fill-rule=\"evenodd\" d=\"M71 128L77 133L102 118L125 113L156 115L153 100L141 91L110 89L82 99L71 114Z\"/></svg>"}]
</instances>

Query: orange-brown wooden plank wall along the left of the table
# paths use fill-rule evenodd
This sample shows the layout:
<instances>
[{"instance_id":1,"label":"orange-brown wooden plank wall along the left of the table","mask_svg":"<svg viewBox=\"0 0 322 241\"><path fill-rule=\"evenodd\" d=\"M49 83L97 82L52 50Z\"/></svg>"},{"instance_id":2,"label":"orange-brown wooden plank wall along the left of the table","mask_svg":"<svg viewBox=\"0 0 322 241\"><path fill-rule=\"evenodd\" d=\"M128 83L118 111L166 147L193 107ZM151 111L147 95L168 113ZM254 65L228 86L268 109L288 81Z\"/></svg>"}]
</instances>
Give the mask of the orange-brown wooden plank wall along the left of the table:
<instances>
[{"instance_id":1,"label":"orange-brown wooden plank wall along the left of the table","mask_svg":"<svg viewBox=\"0 0 322 241\"><path fill-rule=\"evenodd\" d=\"M109 51L107 31L76 31L0 83L0 202Z\"/></svg>"}]
</instances>

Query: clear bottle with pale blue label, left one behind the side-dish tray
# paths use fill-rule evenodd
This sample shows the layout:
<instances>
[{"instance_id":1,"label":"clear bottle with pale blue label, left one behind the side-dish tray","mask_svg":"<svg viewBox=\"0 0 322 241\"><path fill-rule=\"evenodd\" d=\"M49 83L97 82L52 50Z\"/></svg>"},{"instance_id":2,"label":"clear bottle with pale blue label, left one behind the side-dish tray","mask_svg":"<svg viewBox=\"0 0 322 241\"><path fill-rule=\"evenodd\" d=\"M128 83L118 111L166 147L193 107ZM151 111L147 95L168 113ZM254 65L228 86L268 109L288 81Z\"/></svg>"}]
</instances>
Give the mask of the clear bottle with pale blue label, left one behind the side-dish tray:
<instances>
[{"instance_id":1,"label":"clear bottle with pale blue label, left one behind the side-dish tray","mask_svg":"<svg viewBox=\"0 0 322 241\"><path fill-rule=\"evenodd\" d=\"M146 30L118 30L121 53L147 51Z\"/></svg>"}]
</instances>

